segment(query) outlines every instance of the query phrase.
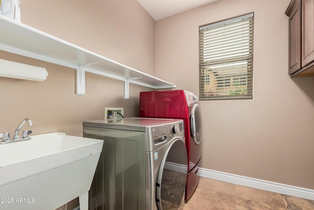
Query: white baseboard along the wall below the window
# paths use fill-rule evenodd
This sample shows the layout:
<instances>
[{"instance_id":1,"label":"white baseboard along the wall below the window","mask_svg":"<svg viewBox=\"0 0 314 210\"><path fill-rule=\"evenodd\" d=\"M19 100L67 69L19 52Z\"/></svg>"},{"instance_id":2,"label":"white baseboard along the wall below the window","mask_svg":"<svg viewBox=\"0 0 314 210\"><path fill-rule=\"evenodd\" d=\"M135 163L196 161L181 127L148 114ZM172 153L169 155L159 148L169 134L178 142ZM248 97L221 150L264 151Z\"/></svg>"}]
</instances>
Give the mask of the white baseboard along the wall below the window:
<instances>
[{"instance_id":1,"label":"white baseboard along the wall below the window","mask_svg":"<svg viewBox=\"0 0 314 210\"><path fill-rule=\"evenodd\" d=\"M314 190L302 187L296 187L287 184L281 184L266 180L258 180L249 177L238 176L235 174L228 174L225 172L219 172L214 170L209 170L205 168L200 168L198 171L200 177L209 178L212 180L225 181L237 185L252 187L256 189L267 190L271 192L276 192L284 195L295 196L299 198L305 198L309 200L314 200Z\"/></svg>"}]
</instances>

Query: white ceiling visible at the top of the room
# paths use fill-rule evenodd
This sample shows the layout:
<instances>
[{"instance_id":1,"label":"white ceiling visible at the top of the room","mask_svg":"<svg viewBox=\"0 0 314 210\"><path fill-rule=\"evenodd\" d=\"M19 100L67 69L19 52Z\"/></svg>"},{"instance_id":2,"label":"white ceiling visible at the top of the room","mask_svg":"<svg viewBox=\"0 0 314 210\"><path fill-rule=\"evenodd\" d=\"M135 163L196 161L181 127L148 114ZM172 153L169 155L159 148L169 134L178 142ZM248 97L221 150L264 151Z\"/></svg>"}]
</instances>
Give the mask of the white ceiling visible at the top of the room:
<instances>
[{"instance_id":1,"label":"white ceiling visible at the top of the room","mask_svg":"<svg viewBox=\"0 0 314 210\"><path fill-rule=\"evenodd\" d=\"M154 18L160 20L217 0L137 0Z\"/></svg>"}]
</instances>

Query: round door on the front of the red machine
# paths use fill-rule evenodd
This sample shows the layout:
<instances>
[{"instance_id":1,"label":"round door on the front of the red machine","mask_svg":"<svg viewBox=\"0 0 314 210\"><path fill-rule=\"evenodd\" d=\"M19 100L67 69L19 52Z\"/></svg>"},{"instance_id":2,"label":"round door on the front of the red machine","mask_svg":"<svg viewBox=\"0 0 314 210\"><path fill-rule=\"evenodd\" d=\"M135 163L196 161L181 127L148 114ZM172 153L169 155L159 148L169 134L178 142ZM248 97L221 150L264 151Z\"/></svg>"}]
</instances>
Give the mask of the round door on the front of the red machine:
<instances>
[{"instance_id":1,"label":"round door on the front of the red machine","mask_svg":"<svg viewBox=\"0 0 314 210\"><path fill-rule=\"evenodd\" d=\"M202 116L200 105L193 105L190 115L191 136L195 144L199 145L202 141Z\"/></svg>"}]
</instances>

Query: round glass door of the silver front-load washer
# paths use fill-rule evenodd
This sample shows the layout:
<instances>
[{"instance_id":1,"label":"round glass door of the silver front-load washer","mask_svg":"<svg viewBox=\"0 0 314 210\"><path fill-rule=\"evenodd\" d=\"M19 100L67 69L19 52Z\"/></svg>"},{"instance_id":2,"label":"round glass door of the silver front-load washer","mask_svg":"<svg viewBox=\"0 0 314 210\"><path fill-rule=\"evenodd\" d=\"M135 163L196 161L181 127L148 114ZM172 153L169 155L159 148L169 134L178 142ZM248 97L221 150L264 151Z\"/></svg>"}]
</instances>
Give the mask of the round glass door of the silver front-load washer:
<instances>
[{"instance_id":1,"label":"round glass door of the silver front-load washer","mask_svg":"<svg viewBox=\"0 0 314 210\"><path fill-rule=\"evenodd\" d=\"M165 151L157 177L158 210L179 209L185 191L187 154L183 141L175 139Z\"/></svg>"}]
</instances>

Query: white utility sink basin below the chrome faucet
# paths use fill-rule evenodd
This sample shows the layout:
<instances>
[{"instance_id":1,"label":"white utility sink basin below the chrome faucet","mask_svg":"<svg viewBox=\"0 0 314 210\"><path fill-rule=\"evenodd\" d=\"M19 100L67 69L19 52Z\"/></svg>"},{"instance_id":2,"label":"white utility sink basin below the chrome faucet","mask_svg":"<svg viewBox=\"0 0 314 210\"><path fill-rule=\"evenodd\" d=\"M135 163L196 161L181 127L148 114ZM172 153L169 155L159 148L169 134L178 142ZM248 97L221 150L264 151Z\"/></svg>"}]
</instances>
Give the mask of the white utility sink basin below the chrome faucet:
<instances>
[{"instance_id":1,"label":"white utility sink basin below the chrome faucet","mask_svg":"<svg viewBox=\"0 0 314 210\"><path fill-rule=\"evenodd\" d=\"M55 210L79 197L88 210L103 141L49 133L0 145L0 209Z\"/></svg>"}]
</instances>

